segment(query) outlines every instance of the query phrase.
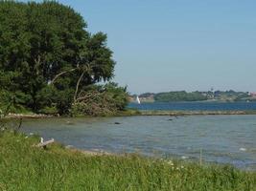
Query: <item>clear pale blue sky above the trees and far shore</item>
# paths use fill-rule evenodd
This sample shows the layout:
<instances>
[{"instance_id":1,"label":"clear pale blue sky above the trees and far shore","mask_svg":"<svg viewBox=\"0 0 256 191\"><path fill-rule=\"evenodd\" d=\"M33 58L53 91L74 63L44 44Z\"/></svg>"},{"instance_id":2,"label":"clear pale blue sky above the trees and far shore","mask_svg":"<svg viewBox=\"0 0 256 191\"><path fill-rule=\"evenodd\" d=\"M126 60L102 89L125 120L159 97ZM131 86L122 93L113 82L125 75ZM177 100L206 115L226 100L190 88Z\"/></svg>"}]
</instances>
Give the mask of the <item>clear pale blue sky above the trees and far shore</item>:
<instances>
[{"instance_id":1,"label":"clear pale blue sky above the trees and far shore","mask_svg":"<svg viewBox=\"0 0 256 191\"><path fill-rule=\"evenodd\" d=\"M38 1L39 2L39 1ZM59 0L107 33L128 92L256 92L255 0Z\"/></svg>"}]
</instances>

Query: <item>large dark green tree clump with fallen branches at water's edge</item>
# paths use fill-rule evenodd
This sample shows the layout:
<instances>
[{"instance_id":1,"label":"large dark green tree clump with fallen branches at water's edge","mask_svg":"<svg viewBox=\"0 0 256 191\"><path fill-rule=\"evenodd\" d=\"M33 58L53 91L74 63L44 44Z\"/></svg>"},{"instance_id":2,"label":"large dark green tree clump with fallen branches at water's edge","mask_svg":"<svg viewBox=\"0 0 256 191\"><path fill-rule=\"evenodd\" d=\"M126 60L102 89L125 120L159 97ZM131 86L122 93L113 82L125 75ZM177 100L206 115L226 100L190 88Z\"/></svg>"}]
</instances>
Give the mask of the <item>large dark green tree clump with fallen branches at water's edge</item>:
<instances>
[{"instance_id":1,"label":"large dark green tree clump with fallen branches at water's edge","mask_svg":"<svg viewBox=\"0 0 256 191\"><path fill-rule=\"evenodd\" d=\"M72 8L51 1L0 1L2 111L65 115L73 109L85 114L123 110L126 88L95 85L111 80L114 66L106 34L87 32Z\"/></svg>"}]
</instances>

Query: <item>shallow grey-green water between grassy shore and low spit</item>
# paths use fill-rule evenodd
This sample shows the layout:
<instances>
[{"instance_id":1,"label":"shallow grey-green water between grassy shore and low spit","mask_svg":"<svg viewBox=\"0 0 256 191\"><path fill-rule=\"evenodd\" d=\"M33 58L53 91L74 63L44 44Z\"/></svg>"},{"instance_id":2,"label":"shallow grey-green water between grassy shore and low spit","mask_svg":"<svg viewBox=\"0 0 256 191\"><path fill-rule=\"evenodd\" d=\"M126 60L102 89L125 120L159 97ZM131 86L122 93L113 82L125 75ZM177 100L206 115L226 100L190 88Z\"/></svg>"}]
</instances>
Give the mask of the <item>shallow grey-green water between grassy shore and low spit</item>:
<instances>
[{"instance_id":1,"label":"shallow grey-green water between grassy shore and low spit","mask_svg":"<svg viewBox=\"0 0 256 191\"><path fill-rule=\"evenodd\" d=\"M201 149L204 160L256 170L256 116L50 118L26 120L23 130L116 153L198 159Z\"/></svg>"}]
</instances>

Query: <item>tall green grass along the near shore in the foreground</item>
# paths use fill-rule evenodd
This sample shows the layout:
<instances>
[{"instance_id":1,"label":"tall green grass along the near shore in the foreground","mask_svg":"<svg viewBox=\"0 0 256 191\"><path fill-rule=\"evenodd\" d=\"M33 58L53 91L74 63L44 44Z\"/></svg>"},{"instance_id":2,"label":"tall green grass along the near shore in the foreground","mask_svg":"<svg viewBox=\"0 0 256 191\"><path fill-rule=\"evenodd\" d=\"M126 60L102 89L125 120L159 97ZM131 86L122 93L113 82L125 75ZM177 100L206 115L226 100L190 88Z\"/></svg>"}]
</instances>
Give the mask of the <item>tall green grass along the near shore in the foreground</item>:
<instances>
[{"instance_id":1,"label":"tall green grass along the near shore in the foreground","mask_svg":"<svg viewBox=\"0 0 256 191\"><path fill-rule=\"evenodd\" d=\"M38 138L0 133L0 190L256 190L256 173L231 166L88 156L59 144L36 148Z\"/></svg>"}]
</instances>

